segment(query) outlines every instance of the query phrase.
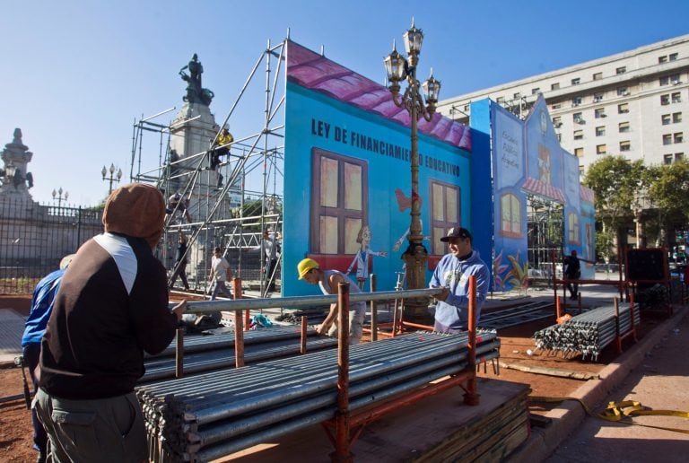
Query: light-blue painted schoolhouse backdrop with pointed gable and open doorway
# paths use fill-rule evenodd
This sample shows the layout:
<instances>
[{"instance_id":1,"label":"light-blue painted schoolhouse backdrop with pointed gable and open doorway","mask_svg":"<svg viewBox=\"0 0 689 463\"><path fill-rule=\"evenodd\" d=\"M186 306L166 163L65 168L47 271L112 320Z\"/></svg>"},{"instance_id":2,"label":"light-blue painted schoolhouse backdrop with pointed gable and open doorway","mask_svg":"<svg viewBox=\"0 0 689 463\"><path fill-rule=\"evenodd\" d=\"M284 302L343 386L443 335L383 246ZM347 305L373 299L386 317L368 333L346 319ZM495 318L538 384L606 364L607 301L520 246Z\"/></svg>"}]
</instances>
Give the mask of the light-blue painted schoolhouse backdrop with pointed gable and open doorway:
<instances>
[{"instance_id":1,"label":"light-blue painted schoolhouse backdrop with pointed gable and open doorway","mask_svg":"<svg viewBox=\"0 0 689 463\"><path fill-rule=\"evenodd\" d=\"M493 139L494 290L528 285L528 196L563 205L564 252L576 249L581 277L593 277L593 192L580 186L579 160L560 146L543 97L523 121L490 100L473 103L471 113L490 115L472 127Z\"/></svg>"}]
</instances>

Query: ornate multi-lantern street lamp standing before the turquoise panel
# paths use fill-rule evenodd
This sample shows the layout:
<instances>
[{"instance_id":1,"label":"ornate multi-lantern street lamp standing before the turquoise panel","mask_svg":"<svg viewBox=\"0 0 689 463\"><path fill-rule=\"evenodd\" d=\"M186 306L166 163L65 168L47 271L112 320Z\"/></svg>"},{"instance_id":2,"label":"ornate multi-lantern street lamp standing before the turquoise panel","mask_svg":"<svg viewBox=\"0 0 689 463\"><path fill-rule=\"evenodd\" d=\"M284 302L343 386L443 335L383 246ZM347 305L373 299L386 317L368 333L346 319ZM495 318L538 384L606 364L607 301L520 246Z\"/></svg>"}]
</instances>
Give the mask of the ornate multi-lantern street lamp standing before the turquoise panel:
<instances>
[{"instance_id":1,"label":"ornate multi-lantern street lamp standing before the turquoise panel","mask_svg":"<svg viewBox=\"0 0 689 463\"><path fill-rule=\"evenodd\" d=\"M423 246L423 233L421 226L421 197L419 197L419 136L418 122L424 118L430 121L435 112L440 93L440 82L431 76L423 84L416 79L416 65L419 62L421 46L423 44L423 31L416 29L414 20L412 27L405 32L405 48L407 57L397 52L393 42L392 53L385 57L385 69L388 74L388 89L392 93L392 100L397 107L409 112L412 123L412 212L409 226L409 247L402 258L406 263L406 285L408 289L421 289L426 287L426 266L428 263L428 251ZM400 84L406 80L406 90L400 96ZM422 95L423 89L423 95ZM425 103L424 103L425 100ZM411 303L410 303L411 302ZM428 301L417 299L406 304L406 319L428 321Z\"/></svg>"}]
</instances>

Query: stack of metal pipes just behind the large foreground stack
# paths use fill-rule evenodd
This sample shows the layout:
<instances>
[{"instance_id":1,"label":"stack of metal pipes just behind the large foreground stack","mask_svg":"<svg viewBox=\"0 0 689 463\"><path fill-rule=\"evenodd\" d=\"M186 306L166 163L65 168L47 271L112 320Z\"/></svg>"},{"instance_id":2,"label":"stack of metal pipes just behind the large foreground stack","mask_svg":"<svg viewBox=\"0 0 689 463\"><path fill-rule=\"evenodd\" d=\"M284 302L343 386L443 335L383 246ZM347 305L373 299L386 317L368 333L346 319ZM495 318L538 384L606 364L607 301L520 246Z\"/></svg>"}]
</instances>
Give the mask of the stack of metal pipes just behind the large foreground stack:
<instances>
[{"instance_id":1,"label":"stack of metal pipes just behind the large foreground stack","mask_svg":"<svg viewBox=\"0 0 689 463\"><path fill-rule=\"evenodd\" d=\"M245 331L243 336L245 363L257 363L300 353L301 328L299 326L274 325L272 328ZM176 339L173 339L161 354L146 357L144 360L146 372L139 383L175 376L176 342ZM336 346L336 338L318 336L316 328L307 328L307 352ZM209 336L185 336L185 374L218 370L234 365L234 331Z\"/></svg>"}]
</instances>

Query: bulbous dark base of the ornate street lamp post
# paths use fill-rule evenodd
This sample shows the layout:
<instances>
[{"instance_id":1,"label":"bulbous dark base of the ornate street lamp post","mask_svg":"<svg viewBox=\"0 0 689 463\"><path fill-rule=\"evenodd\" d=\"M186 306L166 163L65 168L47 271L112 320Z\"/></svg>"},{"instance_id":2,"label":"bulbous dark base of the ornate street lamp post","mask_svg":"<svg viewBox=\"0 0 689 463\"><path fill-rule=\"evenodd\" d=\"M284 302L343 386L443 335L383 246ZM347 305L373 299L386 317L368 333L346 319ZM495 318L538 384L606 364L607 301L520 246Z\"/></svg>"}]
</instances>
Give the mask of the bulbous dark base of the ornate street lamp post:
<instances>
[{"instance_id":1,"label":"bulbous dark base of the ornate street lamp post","mask_svg":"<svg viewBox=\"0 0 689 463\"><path fill-rule=\"evenodd\" d=\"M425 289L428 251L421 243L409 243L402 255L406 265L406 289ZM428 312L429 299L420 297L405 301L404 319L420 325L433 324L433 317Z\"/></svg>"}]
</instances>

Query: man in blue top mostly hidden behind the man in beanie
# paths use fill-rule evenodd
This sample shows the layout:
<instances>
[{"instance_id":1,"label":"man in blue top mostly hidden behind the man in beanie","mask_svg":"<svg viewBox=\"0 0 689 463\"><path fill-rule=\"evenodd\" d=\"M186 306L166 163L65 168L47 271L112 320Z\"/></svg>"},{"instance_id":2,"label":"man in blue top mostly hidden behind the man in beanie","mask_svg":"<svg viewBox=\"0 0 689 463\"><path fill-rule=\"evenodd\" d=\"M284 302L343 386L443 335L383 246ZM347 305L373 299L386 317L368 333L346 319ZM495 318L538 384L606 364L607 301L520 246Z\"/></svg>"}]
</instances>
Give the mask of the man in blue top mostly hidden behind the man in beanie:
<instances>
[{"instance_id":1,"label":"man in blue top mostly hidden behind the man in beanie","mask_svg":"<svg viewBox=\"0 0 689 463\"><path fill-rule=\"evenodd\" d=\"M46 326L48 326L48 319L50 318L50 312L53 310L53 301L60 287L62 275L65 275L65 270L72 258L74 258L74 254L62 258L60 268L40 280L33 291L31 312L29 312L29 317L24 323L22 350L24 363L29 367L34 391L39 387L39 380L36 378L35 370L39 364L40 340L43 338ZM33 448L39 450L38 461L42 463L46 460L48 434L43 429L43 425L40 424L34 409L31 409L31 419L33 420Z\"/></svg>"}]
</instances>

